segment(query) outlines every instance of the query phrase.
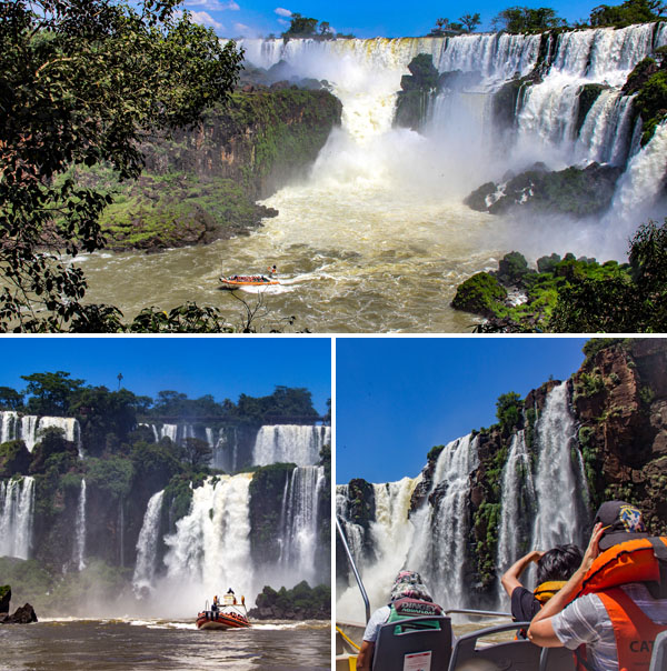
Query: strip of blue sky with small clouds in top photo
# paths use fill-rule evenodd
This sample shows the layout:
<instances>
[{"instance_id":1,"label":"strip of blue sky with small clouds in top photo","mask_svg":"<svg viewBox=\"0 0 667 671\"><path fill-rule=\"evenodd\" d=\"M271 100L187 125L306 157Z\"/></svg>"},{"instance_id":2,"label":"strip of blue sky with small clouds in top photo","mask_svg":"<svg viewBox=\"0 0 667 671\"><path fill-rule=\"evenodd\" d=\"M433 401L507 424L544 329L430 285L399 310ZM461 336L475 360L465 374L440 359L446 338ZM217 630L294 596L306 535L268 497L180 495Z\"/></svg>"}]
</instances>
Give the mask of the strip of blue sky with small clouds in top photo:
<instances>
[{"instance_id":1,"label":"strip of blue sky with small clouds in top photo","mask_svg":"<svg viewBox=\"0 0 667 671\"><path fill-rule=\"evenodd\" d=\"M620 4L610 0L609 4ZM492 18L502 9L516 4L526 7L552 7L569 22L587 19L600 0L551 3L545 0L511 2L507 0L478 0L476 2L421 2L406 3L398 0L187 0L185 7L195 20L211 26L220 37L266 37L280 34L289 27L289 16L298 12L305 17L328 21L337 32L352 32L359 38L418 37L427 34L438 18L458 21L465 13L479 12L479 30L490 30Z\"/></svg>"}]
</instances>

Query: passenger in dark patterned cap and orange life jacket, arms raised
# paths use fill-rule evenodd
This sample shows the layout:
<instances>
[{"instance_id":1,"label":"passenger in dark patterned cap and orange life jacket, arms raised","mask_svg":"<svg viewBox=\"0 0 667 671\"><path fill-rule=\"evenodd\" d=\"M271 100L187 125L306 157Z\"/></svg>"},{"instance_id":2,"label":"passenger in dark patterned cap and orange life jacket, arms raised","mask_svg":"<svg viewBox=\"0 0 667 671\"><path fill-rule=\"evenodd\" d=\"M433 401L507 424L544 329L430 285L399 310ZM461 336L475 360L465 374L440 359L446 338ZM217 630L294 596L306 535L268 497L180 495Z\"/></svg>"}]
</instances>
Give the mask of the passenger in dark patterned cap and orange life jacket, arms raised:
<instances>
[{"instance_id":1,"label":"passenger in dark patterned cap and orange life jacket, arms raised","mask_svg":"<svg viewBox=\"0 0 667 671\"><path fill-rule=\"evenodd\" d=\"M599 570L600 564L606 562L607 557L615 554L614 551L605 553L600 561L596 562L594 571L587 575L600 552L614 549L625 541L646 538L649 537L641 512L637 508L624 501L603 503L597 512L581 565L537 613L530 623L528 638L545 648L565 645L576 650L585 644L585 662L581 661L583 655L577 652L579 668L586 667L595 671L648 669L653 642L659 631L667 630L667 597L664 591L658 593L655 590L657 583L620 580L617 582L620 587L587 587L590 593L576 598L585 578L587 583L593 584L596 577L604 574ZM665 541L655 540L657 552L660 552ZM637 560L633 560L633 553L626 551L624 554L624 561L617 562L616 565L625 572L628 567L633 569ZM657 559L659 560L659 555ZM653 560L653 563L655 561Z\"/></svg>"}]
</instances>

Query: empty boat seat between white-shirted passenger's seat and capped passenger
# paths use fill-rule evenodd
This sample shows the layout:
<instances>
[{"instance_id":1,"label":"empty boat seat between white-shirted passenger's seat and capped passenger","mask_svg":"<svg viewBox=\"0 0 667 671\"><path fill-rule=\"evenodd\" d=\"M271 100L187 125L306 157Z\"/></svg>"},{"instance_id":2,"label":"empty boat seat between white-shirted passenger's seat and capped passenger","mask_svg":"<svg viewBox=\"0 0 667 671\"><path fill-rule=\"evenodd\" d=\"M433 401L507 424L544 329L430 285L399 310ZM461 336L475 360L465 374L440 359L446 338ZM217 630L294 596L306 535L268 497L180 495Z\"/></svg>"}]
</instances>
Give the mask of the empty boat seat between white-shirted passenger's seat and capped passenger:
<instances>
[{"instance_id":1,"label":"empty boat seat between white-shirted passenger's seat and capped passenger","mask_svg":"<svg viewBox=\"0 0 667 671\"><path fill-rule=\"evenodd\" d=\"M478 645L480 639L506 631L528 629L529 625L530 622L510 622L462 635L454 647L449 671L456 669L462 671L468 668L480 671L536 671L539 669L542 649L528 639L519 638L486 647Z\"/></svg>"}]
</instances>

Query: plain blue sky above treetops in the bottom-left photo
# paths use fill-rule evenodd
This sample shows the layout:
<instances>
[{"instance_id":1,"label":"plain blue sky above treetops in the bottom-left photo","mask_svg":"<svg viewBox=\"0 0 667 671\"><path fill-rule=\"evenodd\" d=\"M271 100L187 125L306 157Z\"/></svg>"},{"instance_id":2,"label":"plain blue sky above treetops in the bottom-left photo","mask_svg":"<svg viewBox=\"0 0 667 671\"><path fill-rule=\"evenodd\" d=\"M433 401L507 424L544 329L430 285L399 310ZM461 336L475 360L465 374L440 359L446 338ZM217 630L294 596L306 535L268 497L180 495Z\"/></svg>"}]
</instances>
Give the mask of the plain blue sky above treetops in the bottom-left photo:
<instances>
[{"instance_id":1,"label":"plain blue sky above treetops in the bottom-left photo","mask_svg":"<svg viewBox=\"0 0 667 671\"><path fill-rule=\"evenodd\" d=\"M155 398L175 390L196 399L268 395L278 384L305 387L316 410L331 395L328 338L10 338L3 337L0 387L22 391L21 375L66 371L91 385L122 385Z\"/></svg>"}]
</instances>

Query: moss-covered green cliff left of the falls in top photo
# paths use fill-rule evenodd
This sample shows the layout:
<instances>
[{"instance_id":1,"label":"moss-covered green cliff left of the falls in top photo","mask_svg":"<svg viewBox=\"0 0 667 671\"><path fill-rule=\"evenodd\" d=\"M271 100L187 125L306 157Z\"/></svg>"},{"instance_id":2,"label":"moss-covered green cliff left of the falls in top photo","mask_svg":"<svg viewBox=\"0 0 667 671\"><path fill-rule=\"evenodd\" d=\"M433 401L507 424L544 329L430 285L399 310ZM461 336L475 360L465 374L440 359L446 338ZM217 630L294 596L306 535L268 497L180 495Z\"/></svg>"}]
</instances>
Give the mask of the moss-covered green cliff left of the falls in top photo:
<instances>
[{"instance_id":1,"label":"moss-covered green cliff left of the falls in top photo","mask_svg":"<svg viewBox=\"0 0 667 671\"><path fill-rule=\"evenodd\" d=\"M278 213L255 201L306 173L341 109L323 90L235 93L198 127L145 143L143 174L102 216L108 247L157 251L247 234Z\"/></svg>"}]
</instances>

